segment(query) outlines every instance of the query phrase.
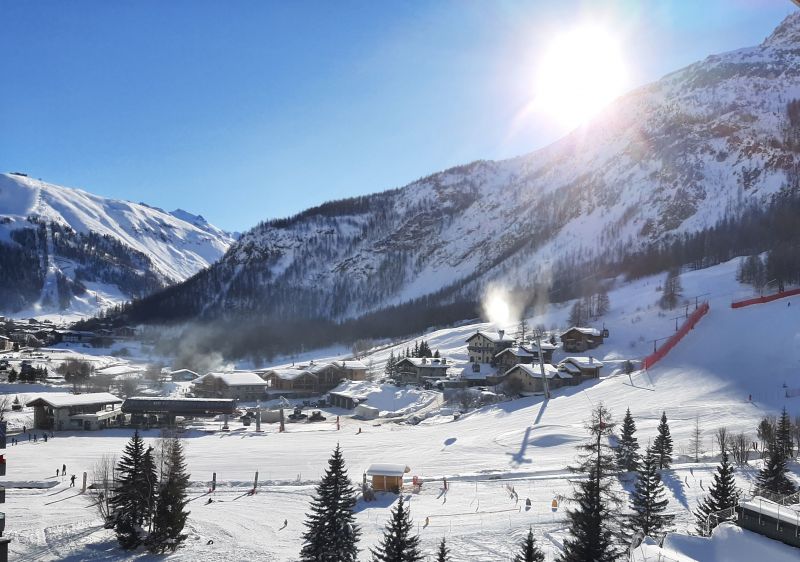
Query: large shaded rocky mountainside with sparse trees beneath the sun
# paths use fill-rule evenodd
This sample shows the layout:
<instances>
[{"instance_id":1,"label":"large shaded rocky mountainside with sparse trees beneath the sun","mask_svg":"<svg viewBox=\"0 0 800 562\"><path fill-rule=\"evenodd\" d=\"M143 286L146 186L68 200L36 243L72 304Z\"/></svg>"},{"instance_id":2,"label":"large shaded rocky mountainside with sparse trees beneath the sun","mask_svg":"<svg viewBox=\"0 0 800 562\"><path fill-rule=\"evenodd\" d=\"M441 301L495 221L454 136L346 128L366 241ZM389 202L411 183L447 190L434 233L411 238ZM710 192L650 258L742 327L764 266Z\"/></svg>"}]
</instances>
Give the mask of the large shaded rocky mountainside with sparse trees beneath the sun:
<instances>
[{"instance_id":1,"label":"large shaded rocky mountainside with sparse trees beneath the sun","mask_svg":"<svg viewBox=\"0 0 800 562\"><path fill-rule=\"evenodd\" d=\"M341 318L492 282L561 282L797 189L800 115L787 109L797 98L800 14L761 45L621 97L542 150L265 222L149 310Z\"/></svg>"}]
</instances>

